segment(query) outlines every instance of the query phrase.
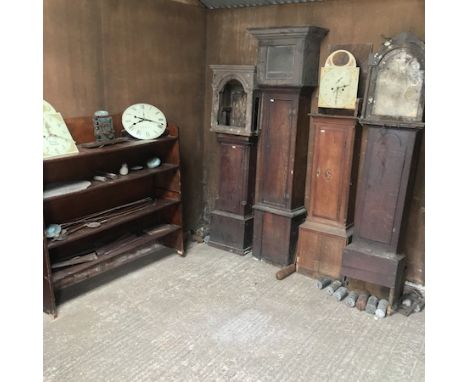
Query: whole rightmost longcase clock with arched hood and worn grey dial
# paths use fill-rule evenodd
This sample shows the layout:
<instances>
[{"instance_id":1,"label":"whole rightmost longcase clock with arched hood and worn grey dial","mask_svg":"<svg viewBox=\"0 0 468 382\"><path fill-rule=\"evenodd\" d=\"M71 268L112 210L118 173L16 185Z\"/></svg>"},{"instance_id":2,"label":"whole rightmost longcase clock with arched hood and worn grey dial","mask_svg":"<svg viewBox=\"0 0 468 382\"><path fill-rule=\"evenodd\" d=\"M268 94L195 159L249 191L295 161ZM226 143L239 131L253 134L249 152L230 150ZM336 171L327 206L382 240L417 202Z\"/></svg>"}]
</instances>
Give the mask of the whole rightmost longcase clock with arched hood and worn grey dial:
<instances>
[{"instance_id":1,"label":"whole rightmost longcase clock with arched hood and worn grey dial","mask_svg":"<svg viewBox=\"0 0 468 382\"><path fill-rule=\"evenodd\" d=\"M367 146L353 242L343 251L342 275L389 288L391 311L405 279L400 238L424 127L424 43L401 33L386 41L369 64L360 119ZM376 101L385 102L376 107Z\"/></svg>"}]
</instances>

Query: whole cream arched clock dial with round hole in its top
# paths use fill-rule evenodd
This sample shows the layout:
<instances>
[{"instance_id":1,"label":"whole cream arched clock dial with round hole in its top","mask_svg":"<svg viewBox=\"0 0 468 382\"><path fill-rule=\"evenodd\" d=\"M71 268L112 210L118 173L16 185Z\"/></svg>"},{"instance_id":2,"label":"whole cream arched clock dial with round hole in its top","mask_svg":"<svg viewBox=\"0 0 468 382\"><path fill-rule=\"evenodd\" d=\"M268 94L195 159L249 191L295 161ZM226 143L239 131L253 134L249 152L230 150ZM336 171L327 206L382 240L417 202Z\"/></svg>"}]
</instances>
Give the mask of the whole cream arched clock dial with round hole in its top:
<instances>
[{"instance_id":1,"label":"whole cream arched clock dial with round hole in its top","mask_svg":"<svg viewBox=\"0 0 468 382\"><path fill-rule=\"evenodd\" d=\"M330 54L320 72L319 107L350 109L356 107L359 68L347 50Z\"/></svg>"}]
</instances>

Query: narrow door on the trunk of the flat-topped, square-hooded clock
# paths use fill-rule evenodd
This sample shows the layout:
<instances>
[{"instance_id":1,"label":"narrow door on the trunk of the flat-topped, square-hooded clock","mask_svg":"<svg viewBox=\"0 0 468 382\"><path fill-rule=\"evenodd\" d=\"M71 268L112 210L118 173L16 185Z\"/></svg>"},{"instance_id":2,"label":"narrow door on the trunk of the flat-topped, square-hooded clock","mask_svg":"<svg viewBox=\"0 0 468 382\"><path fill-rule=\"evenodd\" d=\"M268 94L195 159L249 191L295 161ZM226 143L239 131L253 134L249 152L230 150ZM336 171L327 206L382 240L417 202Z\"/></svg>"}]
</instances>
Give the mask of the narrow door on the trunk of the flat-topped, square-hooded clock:
<instances>
[{"instance_id":1,"label":"narrow door on the trunk of the flat-topped, square-hooded clock","mask_svg":"<svg viewBox=\"0 0 468 382\"><path fill-rule=\"evenodd\" d=\"M273 96L273 95L272 95ZM274 99L274 102L271 101ZM262 202L286 207L288 186L288 169L291 139L291 99L270 98L266 95L267 125L263 134L263 173Z\"/></svg>"}]
</instances>

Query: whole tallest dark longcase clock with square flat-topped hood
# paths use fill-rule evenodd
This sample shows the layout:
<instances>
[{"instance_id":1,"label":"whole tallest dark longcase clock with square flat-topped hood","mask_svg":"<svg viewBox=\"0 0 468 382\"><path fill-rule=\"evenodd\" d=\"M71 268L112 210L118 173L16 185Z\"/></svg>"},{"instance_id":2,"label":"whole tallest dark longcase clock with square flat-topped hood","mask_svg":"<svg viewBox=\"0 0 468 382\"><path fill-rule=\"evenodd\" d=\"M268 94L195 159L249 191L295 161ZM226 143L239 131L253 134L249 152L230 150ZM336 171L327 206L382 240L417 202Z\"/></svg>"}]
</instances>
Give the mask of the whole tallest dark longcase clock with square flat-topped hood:
<instances>
[{"instance_id":1,"label":"whole tallest dark longcase clock with square flat-topped hood","mask_svg":"<svg viewBox=\"0 0 468 382\"><path fill-rule=\"evenodd\" d=\"M312 91L326 29L251 28L258 41L262 93L254 209L253 256L277 265L294 261L304 221L304 189Z\"/></svg>"}]
</instances>

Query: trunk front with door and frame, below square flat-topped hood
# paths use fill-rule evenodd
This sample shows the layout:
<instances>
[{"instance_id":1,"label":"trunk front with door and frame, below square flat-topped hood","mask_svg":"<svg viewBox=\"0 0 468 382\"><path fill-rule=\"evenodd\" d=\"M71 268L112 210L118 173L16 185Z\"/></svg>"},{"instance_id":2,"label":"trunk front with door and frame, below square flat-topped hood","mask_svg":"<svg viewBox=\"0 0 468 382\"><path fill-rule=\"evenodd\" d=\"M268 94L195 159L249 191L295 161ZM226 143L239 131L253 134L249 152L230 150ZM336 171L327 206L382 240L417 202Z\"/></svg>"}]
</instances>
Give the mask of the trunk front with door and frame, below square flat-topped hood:
<instances>
[{"instance_id":1,"label":"trunk front with door and frame, below square flat-topped hood","mask_svg":"<svg viewBox=\"0 0 468 382\"><path fill-rule=\"evenodd\" d=\"M263 93L257 203L280 208L290 205L292 130L297 101L295 94Z\"/></svg>"}]
</instances>

